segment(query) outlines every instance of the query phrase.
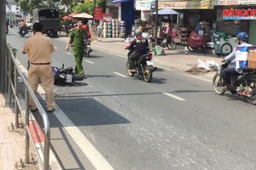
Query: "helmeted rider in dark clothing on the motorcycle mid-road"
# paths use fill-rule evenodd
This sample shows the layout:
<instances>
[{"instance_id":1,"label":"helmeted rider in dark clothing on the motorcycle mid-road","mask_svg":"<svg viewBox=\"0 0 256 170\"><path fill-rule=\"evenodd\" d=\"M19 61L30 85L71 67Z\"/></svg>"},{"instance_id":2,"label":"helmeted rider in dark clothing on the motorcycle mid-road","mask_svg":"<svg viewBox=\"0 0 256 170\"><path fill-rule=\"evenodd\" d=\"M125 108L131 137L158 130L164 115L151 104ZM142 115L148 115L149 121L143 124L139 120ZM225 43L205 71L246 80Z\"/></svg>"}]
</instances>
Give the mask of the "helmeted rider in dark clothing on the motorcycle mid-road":
<instances>
[{"instance_id":1,"label":"helmeted rider in dark clothing on the motorcycle mid-road","mask_svg":"<svg viewBox=\"0 0 256 170\"><path fill-rule=\"evenodd\" d=\"M135 46L135 51L130 57L131 72L136 72L134 60L137 60L141 55L148 53L148 39L142 36L143 31L137 29L135 34L137 37L132 40L131 45L128 48L132 49Z\"/></svg>"}]
</instances>

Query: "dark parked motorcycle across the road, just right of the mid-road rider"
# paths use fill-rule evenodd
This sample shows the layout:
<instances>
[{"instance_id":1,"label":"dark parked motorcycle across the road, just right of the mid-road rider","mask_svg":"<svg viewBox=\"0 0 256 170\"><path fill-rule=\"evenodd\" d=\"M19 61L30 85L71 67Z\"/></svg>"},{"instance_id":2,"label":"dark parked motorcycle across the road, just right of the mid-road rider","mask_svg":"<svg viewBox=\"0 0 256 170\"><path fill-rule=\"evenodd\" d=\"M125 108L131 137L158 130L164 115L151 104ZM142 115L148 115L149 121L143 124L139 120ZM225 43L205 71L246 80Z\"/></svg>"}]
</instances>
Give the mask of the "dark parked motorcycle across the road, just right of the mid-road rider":
<instances>
[{"instance_id":1,"label":"dark parked motorcycle across the road, just right of the mid-road rider","mask_svg":"<svg viewBox=\"0 0 256 170\"><path fill-rule=\"evenodd\" d=\"M170 50L174 50L174 49L177 48L177 43L172 40L172 37L170 37L170 36L168 36L166 34L164 35L163 38L158 38L157 41L158 41L157 44L159 44L162 48L166 48L167 47ZM152 45L152 48L155 47L155 39L154 39L154 37L150 37L149 38L149 44Z\"/></svg>"}]
</instances>

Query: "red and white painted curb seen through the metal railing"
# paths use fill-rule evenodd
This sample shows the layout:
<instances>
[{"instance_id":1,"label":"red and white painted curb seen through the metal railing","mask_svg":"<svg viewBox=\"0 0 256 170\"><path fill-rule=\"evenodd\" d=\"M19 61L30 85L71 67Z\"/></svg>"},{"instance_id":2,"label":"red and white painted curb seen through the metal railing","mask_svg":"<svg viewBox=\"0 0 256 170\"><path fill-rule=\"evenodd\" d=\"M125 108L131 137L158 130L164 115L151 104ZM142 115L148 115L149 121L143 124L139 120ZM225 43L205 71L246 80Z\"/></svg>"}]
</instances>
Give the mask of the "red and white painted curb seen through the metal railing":
<instances>
[{"instance_id":1,"label":"red and white painted curb seen through the metal railing","mask_svg":"<svg viewBox=\"0 0 256 170\"><path fill-rule=\"evenodd\" d=\"M21 65L21 63L18 59L16 59L16 60L17 60L18 64L20 65L20 70L23 72L24 76L27 77L26 68L23 65ZM39 88L41 88L40 85L39 85L38 89ZM40 95L42 95L42 94L40 94ZM20 105L21 105L21 114L23 117L25 117L25 111L26 111L25 100L22 98L20 99ZM39 126L38 121L32 115L31 111L29 111L29 129L32 133L32 139L36 145L40 159L44 162L44 133L43 133L42 128ZM41 169L39 164L38 164L38 167ZM49 167L50 167L50 169L54 169L54 170L62 170L61 164L57 160L57 158L51 148L49 148Z\"/></svg>"}]
</instances>

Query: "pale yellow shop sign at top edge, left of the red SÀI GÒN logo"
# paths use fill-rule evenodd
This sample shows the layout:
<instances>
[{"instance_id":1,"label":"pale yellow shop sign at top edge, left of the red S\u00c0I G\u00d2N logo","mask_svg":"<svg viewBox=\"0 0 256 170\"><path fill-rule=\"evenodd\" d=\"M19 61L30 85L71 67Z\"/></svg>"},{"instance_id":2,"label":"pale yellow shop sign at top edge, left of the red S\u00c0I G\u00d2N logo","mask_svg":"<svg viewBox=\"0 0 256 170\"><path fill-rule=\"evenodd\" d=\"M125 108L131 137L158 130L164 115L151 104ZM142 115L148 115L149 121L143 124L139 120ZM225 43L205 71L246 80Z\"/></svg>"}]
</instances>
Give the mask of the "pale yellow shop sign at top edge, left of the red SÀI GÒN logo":
<instances>
[{"instance_id":1,"label":"pale yellow shop sign at top edge, left of the red S\u00c0I G\u00d2N logo","mask_svg":"<svg viewBox=\"0 0 256 170\"><path fill-rule=\"evenodd\" d=\"M158 8L207 9L207 8L214 8L214 0L159 2Z\"/></svg>"}]
</instances>

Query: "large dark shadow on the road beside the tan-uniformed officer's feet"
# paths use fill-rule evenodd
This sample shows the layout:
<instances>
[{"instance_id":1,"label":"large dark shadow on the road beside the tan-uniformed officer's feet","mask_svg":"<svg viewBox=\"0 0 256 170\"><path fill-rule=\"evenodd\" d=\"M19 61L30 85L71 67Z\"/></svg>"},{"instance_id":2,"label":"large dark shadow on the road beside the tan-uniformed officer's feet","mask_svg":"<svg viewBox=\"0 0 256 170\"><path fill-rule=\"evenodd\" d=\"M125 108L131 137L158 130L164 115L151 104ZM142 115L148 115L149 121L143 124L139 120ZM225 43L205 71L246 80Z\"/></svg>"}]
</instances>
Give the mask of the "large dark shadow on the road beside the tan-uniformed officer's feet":
<instances>
[{"instance_id":1,"label":"large dark shadow on the road beside the tan-uniformed officer's feet","mask_svg":"<svg viewBox=\"0 0 256 170\"><path fill-rule=\"evenodd\" d=\"M61 111L67 115L76 127L131 123L125 117L102 105L96 99L77 97L67 96L65 99L55 98L55 103L60 106ZM43 99L40 99L40 103L45 105ZM34 111L33 115L38 120L40 126L44 127L39 112ZM56 119L55 114L49 113L48 116L50 127L60 127L60 122ZM56 126L58 124L59 126Z\"/></svg>"}]
</instances>

